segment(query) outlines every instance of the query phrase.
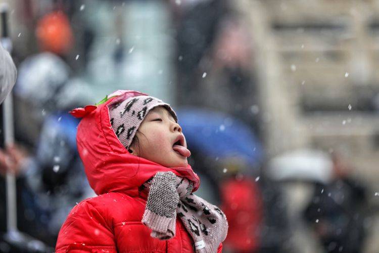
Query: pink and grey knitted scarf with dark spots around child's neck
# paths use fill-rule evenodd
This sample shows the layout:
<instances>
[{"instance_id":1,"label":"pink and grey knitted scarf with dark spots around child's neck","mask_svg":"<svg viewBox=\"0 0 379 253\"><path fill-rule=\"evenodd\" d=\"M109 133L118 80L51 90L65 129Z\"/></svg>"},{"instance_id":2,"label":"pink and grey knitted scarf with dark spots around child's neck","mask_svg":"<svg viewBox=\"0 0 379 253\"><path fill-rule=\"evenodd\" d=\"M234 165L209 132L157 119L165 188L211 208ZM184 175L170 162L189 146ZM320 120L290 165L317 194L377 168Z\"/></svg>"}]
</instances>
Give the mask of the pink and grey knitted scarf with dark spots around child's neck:
<instances>
[{"instance_id":1,"label":"pink and grey knitted scarf with dark spots around child's neck","mask_svg":"<svg viewBox=\"0 0 379 253\"><path fill-rule=\"evenodd\" d=\"M195 242L196 252L217 252L225 240L228 223L224 213L192 193L193 183L172 172L158 172L141 186L148 194L142 222L151 236L167 240L175 236L176 216Z\"/></svg>"}]
</instances>

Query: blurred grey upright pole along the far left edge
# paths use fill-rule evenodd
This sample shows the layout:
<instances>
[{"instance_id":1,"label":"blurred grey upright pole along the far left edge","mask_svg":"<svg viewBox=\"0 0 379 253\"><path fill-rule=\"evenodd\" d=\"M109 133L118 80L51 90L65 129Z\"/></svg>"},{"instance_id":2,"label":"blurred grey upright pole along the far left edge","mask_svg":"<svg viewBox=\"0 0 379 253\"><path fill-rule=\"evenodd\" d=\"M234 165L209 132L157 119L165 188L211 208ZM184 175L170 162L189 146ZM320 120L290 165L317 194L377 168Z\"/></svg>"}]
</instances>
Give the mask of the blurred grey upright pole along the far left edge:
<instances>
[{"instance_id":1,"label":"blurred grey upright pole along the far left edge","mask_svg":"<svg viewBox=\"0 0 379 253\"><path fill-rule=\"evenodd\" d=\"M12 40L9 37L7 4L0 6L0 15L2 19L2 35L1 43L3 48L9 53L12 51ZM4 147L14 144L14 127L13 127L13 101L12 92L8 94L3 105L3 121L4 121ZM15 175L7 171L7 231L12 233L17 231L17 202L16 202L16 178Z\"/></svg>"}]
</instances>

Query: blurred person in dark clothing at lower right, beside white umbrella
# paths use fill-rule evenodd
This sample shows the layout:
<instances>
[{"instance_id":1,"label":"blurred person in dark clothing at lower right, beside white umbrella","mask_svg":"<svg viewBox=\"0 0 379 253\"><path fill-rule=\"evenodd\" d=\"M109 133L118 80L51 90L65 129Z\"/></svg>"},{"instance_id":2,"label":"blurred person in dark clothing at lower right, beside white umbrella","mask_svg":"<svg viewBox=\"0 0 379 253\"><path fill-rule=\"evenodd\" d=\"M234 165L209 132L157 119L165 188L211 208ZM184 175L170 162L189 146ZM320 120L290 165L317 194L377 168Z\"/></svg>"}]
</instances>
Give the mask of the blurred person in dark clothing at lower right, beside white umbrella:
<instances>
[{"instance_id":1,"label":"blurred person in dark clothing at lower right, beside white umbrella","mask_svg":"<svg viewBox=\"0 0 379 253\"><path fill-rule=\"evenodd\" d=\"M332 155L334 179L317 183L304 211L305 220L319 237L325 252L362 252L365 238L363 212L367 206L365 187L349 176L349 167Z\"/></svg>"}]
</instances>

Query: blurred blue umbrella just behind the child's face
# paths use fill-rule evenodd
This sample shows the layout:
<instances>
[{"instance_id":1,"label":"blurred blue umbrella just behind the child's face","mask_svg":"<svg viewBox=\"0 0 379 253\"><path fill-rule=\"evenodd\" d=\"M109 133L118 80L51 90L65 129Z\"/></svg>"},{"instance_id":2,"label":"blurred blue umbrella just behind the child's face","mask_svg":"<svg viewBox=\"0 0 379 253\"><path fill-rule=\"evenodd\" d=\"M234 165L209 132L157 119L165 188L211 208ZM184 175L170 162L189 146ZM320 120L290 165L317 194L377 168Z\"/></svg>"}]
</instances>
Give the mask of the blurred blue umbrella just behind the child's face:
<instances>
[{"instance_id":1,"label":"blurred blue umbrella just behind the child's face","mask_svg":"<svg viewBox=\"0 0 379 253\"><path fill-rule=\"evenodd\" d=\"M253 166L261 162L262 146L241 120L202 108L180 108L176 113L189 149L219 158L239 157Z\"/></svg>"}]
</instances>

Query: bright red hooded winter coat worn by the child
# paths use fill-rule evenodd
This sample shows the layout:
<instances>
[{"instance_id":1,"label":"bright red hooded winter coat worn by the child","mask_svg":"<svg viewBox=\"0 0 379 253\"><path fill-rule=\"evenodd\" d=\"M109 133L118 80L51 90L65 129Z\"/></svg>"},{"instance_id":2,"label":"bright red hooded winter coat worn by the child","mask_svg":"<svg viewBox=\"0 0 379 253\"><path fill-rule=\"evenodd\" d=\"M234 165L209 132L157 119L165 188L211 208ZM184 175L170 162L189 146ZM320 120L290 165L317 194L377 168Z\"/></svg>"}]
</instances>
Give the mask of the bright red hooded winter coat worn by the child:
<instances>
[{"instance_id":1,"label":"bright red hooded winter coat worn by the child","mask_svg":"<svg viewBox=\"0 0 379 253\"><path fill-rule=\"evenodd\" d=\"M127 96L145 95L127 92ZM117 139L109 119L107 104L74 110L83 117L78 126L77 145L85 173L99 196L83 200L71 210L62 225L56 245L61 252L194 252L192 237L179 218L170 240L150 236L141 223L147 196L138 187L160 171L171 171L194 181L199 178L191 166L167 168L130 155ZM221 252L222 244L218 248Z\"/></svg>"}]
</instances>

